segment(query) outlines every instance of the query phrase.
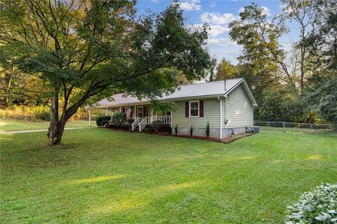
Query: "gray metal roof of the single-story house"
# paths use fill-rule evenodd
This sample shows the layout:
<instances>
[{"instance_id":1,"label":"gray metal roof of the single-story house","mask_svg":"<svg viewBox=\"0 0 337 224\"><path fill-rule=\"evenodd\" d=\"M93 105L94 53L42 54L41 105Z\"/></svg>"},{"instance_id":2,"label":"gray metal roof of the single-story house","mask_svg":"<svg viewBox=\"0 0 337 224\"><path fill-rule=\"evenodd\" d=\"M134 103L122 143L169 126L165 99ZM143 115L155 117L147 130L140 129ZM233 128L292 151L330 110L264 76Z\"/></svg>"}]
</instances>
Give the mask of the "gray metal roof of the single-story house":
<instances>
[{"instance_id":1,"label":"gray metal roof of the single-story house","mask_svg":"<svg viewBox=\"0 0 337 224\"><path fill-rule=\"evenodd\" d=\"M227 80L213 81L209 83L195 83L190 85L181 85L177 88L172 94L164 95L159 97L159 100L169 100L169 99L186 99L192 97L217 97L221 95L226 95L231 92L235 87L240 84L244 84L243 87L246 90L249 99L253 105L256 104L251 92L248 88L248 85L244 81L244 78L233 78ZM108 99L103 99L98 102L98 107L103 106L123 106L126 104L140 104L148 103L147 99L138 100L136 97L126 96L125 94L114 94L112 96L114 101L109 101Z\"/></svg>"}]
</instances>

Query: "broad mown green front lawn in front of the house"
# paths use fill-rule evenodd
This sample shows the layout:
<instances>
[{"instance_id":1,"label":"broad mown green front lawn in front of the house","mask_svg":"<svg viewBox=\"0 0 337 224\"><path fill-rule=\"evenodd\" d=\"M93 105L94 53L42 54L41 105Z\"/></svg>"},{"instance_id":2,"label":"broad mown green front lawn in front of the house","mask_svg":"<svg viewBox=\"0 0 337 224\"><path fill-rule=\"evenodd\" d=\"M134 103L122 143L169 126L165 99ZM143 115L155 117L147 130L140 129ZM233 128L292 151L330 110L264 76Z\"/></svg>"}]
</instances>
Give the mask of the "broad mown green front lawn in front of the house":
<instances>
[{"instance_id":1,"label":"broad mown green front lawn in front of the house","mask_svg":"<svg viewBox=\"0 0 337 224\"><path fill-rule=\"evenodd\" d=\"M0 136L0 223L282 223L337 183L337 139L267 133L212 141L66 130Z\"/></svg>"}]
</instances>

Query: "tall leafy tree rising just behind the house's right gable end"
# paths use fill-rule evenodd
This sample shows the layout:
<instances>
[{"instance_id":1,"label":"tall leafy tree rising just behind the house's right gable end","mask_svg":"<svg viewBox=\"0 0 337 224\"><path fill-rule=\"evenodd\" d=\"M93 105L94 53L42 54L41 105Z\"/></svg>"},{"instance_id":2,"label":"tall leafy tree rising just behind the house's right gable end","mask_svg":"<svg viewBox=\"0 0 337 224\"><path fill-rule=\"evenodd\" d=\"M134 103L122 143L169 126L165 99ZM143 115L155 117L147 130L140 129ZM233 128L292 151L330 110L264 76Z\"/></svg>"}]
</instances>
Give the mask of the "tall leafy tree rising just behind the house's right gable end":
<instances>
[{"instance_id":1,"label":"tall leafy tree rising just behind the house's right gable end","mask_svg":"<svg viewBox=\"0 0 337 224\"><path fill-rule=\"evenodd\" d=\"M292 82L291 74L284 66L284 51L278 40L285 32L282 22L267 20L267 15L256 3L244 7L239 19L230 22L230 38L242 45L242 55L238 57L236 76L246 78L254 96L263 98L263 90L279 83L279 70L283 69L286 80Z\"/></svg>"}]
</instances>

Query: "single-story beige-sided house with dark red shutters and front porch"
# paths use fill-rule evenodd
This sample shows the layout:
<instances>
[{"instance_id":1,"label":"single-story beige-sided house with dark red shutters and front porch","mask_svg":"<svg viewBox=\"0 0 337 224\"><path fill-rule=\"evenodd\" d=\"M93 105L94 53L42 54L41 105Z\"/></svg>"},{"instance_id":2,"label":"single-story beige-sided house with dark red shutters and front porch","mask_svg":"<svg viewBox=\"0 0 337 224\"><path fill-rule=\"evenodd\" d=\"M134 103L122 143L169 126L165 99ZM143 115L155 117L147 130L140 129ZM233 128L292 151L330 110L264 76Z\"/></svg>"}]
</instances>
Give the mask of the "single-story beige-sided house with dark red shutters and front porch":
<instances>
[{"instance_id":1,"label":"single-story beige-sided house with dark red shutters and front porch","mask_svg":"<svg viewBox=\"0 0 337 224\"><path fill-rule=\"evenodd\" d=\"M246 132L253 126L253 106L256 101L244 78L180 85L173 94L165 95L158 100L174 102L177 111L168 111L158 116L151 109L147 99L115 94L113 102L103 99L95 109L106 109L107 115L114 112L125 112L131 109L130 116L135 119L133 130L142 132L154 120L161 120L169 125L172 134L206 137L206 125L210 126L210 137L223 139L232 134ZM175 133L178 130L178 133Z\"/></svg>"}]
</instances>

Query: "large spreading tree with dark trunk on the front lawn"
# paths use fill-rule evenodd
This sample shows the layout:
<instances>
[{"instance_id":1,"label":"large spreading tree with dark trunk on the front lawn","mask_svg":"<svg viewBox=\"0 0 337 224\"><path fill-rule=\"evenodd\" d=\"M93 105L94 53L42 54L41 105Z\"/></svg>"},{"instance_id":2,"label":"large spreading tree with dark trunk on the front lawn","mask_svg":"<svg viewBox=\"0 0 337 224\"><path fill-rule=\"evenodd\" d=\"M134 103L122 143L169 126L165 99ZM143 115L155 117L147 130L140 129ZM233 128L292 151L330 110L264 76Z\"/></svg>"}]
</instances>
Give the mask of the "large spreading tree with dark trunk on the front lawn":
<instances>
[{"instance_id":1,"label":"large spreading tree with dark trunk on the front lawn","mask_svg":"<svg viewBox=\"0 0 337 224\"><path fill-rule=\"evenodd\" d=\"M65 123L84 104L116 92L155 99L173 91L175 70L189 80L204 77L207 27L187 30L176 2L136 20L135 3L0 1L0 62L44 83L48 145L60 144Z\"/></svg>"}]
</instances>

